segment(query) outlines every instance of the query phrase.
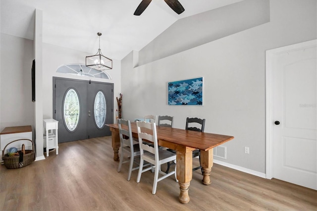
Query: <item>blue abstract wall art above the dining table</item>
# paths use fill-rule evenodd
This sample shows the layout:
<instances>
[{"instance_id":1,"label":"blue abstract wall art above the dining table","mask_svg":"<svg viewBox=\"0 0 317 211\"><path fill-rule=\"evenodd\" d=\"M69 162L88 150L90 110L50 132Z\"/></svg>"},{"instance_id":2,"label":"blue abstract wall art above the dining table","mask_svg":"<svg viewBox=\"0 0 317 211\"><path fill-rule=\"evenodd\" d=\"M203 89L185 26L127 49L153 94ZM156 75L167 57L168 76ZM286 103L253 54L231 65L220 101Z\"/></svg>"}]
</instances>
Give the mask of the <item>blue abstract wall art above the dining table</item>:
<instances>
[{"instance_id":1,"label":"blue abstract wall art above the dining table","mask_svg":"<svg viewBox=\"0 0 317 211\"><path fill-rule=\"evenodd\" d=\"M168 105L203 105L203 78L168 82Z\"/></svg>"}]
</instances>

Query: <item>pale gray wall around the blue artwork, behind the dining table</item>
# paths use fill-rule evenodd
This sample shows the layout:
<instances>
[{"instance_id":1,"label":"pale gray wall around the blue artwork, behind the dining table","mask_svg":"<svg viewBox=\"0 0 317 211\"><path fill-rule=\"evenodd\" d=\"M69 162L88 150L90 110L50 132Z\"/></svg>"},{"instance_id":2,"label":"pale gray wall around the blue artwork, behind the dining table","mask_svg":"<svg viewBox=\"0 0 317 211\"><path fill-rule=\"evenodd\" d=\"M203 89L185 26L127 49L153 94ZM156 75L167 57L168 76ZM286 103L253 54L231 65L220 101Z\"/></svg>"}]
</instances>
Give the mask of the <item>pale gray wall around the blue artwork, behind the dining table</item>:
<instances>
[{"instance_id":1,"label":"pale gray wall around the blue artwork, behind the dining table","mask_svg":"<svg viewBox=\"0 0 317 211\"><path fill-rule=\"evenodd\" d=\"M265 51L316 39L316 13L316 0L271 0L263 25L136 68L128 54L121 61L123 118L173 115L174 127L183 129L187 116L206 118L206 132L235 137L223 145L227 159L215 159L265 173ZM201 76L204 106L167 105L167 82Z\"/></svg>"}]
</instances>

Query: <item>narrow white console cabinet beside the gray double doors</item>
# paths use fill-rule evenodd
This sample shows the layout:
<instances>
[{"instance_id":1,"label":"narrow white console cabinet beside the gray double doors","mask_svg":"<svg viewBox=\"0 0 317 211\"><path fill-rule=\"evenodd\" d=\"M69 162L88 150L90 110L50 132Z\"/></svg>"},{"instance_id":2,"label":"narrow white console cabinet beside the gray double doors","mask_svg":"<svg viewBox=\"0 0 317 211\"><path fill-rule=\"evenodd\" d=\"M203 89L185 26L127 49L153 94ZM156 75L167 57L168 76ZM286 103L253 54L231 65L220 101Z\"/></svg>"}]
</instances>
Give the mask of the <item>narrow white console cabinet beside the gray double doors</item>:
<instances>
[{"instance_id":1,"label":"narrow white console cabinet beside the gray double doors","mask_svg":"<svg viewBox=\"0 0 317 211\"><path fill-rule=\"evenodd\" d=\"M43 145L46 147L46 156L49 157L49 151L56 149L58 155L58 121L55 119L43 119Z\"/></svg>"}]
</instances>

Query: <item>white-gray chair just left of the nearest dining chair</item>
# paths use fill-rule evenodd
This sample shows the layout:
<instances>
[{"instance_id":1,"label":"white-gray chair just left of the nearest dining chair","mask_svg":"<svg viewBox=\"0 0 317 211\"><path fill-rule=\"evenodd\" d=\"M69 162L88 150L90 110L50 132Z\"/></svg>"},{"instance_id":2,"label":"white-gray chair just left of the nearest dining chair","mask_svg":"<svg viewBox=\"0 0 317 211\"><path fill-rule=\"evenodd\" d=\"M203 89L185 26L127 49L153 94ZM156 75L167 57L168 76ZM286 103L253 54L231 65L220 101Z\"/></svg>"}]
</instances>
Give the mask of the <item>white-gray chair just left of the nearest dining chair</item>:
<instances>
[{"instance_id":1,"label":"white-gray chair just left of the nearest dining chair","mask_svg":"<svg viewBox=\"0 0 317 211\"><path fill-rule=\"evenodd\" d=\"M123 128L122 125L125 125ZM139 144L133 144L131 122L130 120L118 119L119 126L119 136L120 136L120 161L118 166L118 172L121 170L123 163L130 162L128 181L131 179L131 173L133 170L139 169L139 163L134 161L134 158L140 157L140 146ZM124 154L127 155L129 159L124 160ZM137 167L133 168L133 163L138 164Z\"/></svg>"}]
</instances>

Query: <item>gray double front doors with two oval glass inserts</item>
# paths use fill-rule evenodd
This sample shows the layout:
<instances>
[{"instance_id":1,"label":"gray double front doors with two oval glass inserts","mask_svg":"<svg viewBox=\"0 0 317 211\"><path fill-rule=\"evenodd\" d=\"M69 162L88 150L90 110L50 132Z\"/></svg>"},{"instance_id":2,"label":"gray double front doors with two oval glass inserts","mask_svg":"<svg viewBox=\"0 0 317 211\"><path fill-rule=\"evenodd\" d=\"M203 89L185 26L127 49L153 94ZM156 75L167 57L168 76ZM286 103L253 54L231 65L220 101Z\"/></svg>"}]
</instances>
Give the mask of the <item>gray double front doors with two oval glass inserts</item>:
<instances>
[{"instance_id":1,"label":"gray double front doors with two oval glass inserts","mask_svg":"<svg viewBox=\"0 0 317 211\"><path fill-rule=\"evenodd\" d=\"M111 135L113 84L53 77L53 118L59 143Z\"/></svg>"}]
</instances>

